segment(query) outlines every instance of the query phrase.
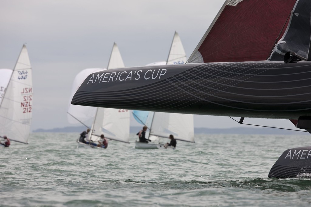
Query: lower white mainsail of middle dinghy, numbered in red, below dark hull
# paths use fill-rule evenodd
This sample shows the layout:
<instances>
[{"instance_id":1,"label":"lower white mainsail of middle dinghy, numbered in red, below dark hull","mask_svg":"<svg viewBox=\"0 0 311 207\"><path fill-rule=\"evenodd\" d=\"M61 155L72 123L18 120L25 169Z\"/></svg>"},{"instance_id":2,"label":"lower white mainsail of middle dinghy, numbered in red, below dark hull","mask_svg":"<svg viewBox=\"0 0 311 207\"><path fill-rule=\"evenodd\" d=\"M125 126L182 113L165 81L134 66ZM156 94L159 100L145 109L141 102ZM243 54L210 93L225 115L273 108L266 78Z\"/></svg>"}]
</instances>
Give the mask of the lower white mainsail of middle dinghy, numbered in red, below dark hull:
<instances>
[{"instance_id":1,"label":"lower white mainsail of middle dinghy, numbered in red, below dark hull","mask_svg":"<svg viewBox=\"0 0 311 207\"><path fill-rule=\"evenodd\" d=\"M98 108L92 126L91 140L99 140L104 134L108 139L129 142L130 112L129 110L114 108Z\"/></svg>"}]
</instances>

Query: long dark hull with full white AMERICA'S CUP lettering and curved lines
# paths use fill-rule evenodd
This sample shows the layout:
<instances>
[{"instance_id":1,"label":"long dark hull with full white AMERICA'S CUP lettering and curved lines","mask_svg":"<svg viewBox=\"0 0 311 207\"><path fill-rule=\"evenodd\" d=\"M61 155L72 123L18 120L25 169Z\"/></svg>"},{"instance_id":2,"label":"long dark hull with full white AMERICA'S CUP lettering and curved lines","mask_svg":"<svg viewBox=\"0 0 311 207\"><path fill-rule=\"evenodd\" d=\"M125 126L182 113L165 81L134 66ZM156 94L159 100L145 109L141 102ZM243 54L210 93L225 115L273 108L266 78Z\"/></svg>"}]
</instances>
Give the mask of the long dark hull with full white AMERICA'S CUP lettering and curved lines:
<instances>
[{"instance_id":1,"label":"long dark hull with full white AMERICA'S CUP lettering and curved lines","mask_svg":"<svg viewBox=\"0 0 311 207\"><path fill-rule=\"evenodd\" d=\"M73 96L72 104L298 119L301 115L311 115L310 68L311 62L261 61L102 71L86 78Z\"/></svg>"}]
</instances>

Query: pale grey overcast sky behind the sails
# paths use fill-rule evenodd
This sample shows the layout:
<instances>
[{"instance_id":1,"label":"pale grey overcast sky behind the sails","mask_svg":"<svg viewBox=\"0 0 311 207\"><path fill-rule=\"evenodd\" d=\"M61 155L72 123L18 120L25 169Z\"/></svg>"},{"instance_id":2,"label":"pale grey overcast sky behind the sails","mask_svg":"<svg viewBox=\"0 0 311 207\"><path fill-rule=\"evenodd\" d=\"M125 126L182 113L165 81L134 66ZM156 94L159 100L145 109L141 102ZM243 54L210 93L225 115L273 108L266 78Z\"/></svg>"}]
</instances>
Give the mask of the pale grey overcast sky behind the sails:
<instances>
[{"instance_id":1,"label":"pale grey overcast sky behind the sails","mask_svg":"<svg viewBox=\"0 0 311 207\"><path fill-rule=\"evenodd\" d=\"M176 30L189 57L225 0L1 0L0 68L13 69L26 43L33 69L32 130L72 126L72 82L107 67L113 43L126 67L165 61ZM294 128L288 120L245 122ZM132 122L132 126L138 125ZM195 115L195 127L241 127L228 117Z\"/></svg>"}]
</instances>

